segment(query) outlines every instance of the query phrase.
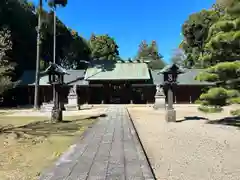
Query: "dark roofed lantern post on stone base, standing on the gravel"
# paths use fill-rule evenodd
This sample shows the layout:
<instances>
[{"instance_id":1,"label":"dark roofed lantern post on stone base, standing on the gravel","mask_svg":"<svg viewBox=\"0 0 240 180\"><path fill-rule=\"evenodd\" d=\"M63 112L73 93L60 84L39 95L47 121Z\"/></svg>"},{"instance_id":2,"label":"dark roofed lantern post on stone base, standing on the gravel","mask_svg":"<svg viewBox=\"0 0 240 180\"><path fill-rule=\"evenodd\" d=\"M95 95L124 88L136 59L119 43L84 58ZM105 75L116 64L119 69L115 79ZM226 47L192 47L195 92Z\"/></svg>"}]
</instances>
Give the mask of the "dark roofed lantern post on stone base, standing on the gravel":
<instances>
[{"instance_id":1,"label":"dark roofed lantern post on stone base, standing on the gravel","mask_svg":"<svg viewBox=\"0 0 240 180\"><path fill-rule=\"evenodd\" d=\"M173 108L173 91L177 86L177 78L179 74L184 73L183 69L179 68L176 64L171 64L163 68L160 73L163 74L163 87L165 92L167 92L168 106L166 110L166 121L175 122L176 121L176 111Z\"/></svg>"}]
</instances>

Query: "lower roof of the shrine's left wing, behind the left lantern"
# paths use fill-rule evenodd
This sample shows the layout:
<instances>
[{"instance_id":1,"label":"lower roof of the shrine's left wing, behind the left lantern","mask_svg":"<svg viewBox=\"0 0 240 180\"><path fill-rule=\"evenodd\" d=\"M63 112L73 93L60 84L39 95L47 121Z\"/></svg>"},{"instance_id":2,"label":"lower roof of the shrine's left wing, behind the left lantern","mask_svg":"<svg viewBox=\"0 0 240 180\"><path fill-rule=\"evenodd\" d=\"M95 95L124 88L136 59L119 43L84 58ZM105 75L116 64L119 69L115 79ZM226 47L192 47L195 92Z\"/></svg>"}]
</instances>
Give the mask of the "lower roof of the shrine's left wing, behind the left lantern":
<instances>
[{"instance_id":1,"label":"lower roof of the shrine's left wing, behind the left lantern","mask_svg":"<svg viewBox=\"0 0 240 180\"><path fill-rule=\"evenodd\" d=\"M64 75L64 83L68 85L88 85L88 81L84 80L84 74L85 70L68 70L68 74ZM35 71L25 71L20 80L20 85L34 85ZM50 85L48 83L48 75L43 75L40 77L39 85Z\"/></svg>"}]
</instances>

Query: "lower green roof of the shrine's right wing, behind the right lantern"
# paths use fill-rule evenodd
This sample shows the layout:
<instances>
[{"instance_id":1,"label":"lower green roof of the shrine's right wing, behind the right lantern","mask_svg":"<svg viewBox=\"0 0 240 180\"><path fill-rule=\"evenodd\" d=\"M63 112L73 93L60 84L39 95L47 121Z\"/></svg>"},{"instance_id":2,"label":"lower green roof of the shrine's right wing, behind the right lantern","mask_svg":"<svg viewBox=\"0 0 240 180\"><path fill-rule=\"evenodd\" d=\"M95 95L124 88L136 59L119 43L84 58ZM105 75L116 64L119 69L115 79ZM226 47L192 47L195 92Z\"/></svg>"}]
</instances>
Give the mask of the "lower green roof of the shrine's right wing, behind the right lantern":
<instances>
[{"instance_id":1,"label":"lower green roof of the shrine's right wing, behind the right lantern","mask_svg":"<svg viewBox=\"0 0 240 180\"><path fill-rule=\"evenodd\" d=\"M183 74L178 75L178 84L179 85L214 85L215 83L198 81L196 76L202 72L201 69L184 69ZM151 70L151 75L153 78L154 84L163 84L163 74L159 73L159 70Z\"/></svg>"}]
</instances>

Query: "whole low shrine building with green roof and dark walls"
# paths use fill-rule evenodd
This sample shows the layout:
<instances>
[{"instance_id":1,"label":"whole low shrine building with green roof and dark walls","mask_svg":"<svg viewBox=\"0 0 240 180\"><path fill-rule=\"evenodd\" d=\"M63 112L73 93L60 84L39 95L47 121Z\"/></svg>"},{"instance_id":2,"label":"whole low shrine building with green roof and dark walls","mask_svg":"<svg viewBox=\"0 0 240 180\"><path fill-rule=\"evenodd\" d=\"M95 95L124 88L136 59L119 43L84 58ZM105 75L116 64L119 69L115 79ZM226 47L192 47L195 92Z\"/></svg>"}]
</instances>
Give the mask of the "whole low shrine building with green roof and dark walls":
<instances>
[{"instance_id":1,"label":"whole low shrine building with green roof and dark walls","mask_svg":"<svg viewBox=\"0 0 240 180\"><path fill-rule=\"evenodd\" d=\"M87 69L68 70L60 98L67 103L69 89L76 84L81 104L151 104L155 100L156 85L163 84L159 71L150 70L143 62L95 61ZM175 103L192 103L204 87L214 85L195 80L200 72L200 69L187 69L179 75ZM13 93L16 104L33 105L35 71L25 71L20 80ZM51 101L53 91L47 76L40 77L39 86L40 103Z\"/></svg>"}]
</instances>

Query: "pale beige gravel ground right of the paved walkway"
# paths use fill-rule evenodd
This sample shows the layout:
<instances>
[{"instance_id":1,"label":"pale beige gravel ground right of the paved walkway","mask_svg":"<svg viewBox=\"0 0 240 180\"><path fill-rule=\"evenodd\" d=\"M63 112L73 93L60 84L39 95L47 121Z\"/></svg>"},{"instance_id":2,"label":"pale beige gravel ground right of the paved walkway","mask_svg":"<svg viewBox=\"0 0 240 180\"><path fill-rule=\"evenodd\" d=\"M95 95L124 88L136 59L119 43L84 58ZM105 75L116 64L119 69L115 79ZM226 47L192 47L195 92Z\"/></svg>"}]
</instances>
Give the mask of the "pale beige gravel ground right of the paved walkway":
<instances>
[{"instance_id":1,"label":"pale beige gravel ground right of the paved walkway","mask_svg":"<svg viewBox=\"0 0 240 180\"><path fill-rule=\"evenodd\" d=\"M204 115L196 107L177 107L185 116L211 120L229 116ZM164 111L128 108L158 180L240 180L240 129L207 124L207 120L166 123ZM240 125L240 124L239 124Z\"/></svg>"}]
</instances>

